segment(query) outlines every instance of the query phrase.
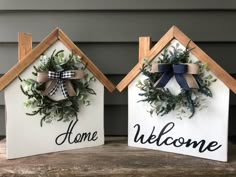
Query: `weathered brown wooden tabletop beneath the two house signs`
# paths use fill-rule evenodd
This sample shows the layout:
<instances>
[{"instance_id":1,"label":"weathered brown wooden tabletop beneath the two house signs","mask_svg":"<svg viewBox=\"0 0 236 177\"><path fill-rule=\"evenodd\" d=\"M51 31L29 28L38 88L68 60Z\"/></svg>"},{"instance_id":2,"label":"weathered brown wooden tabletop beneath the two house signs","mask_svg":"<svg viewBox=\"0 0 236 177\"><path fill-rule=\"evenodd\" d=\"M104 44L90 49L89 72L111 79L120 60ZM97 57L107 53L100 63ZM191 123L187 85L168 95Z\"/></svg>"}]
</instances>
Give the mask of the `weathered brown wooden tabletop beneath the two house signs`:
<instances>
[{"instance_id":1,"label":"weathered brown wooden tabletop beneath the two house signs","mask_svg":"<svg viewBox=\"0 0 236 177\"><path fill-rule=\"evenodd\" d=\"M236 177L236 145L229 162L127 146L126 137L106 137L104 146L6 160L0 141L3 177Z\"/></svg>"}]
</instances>

